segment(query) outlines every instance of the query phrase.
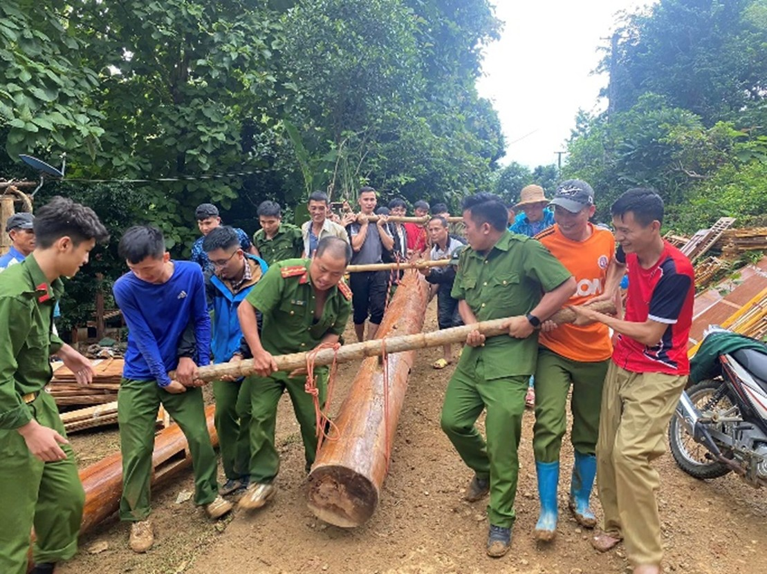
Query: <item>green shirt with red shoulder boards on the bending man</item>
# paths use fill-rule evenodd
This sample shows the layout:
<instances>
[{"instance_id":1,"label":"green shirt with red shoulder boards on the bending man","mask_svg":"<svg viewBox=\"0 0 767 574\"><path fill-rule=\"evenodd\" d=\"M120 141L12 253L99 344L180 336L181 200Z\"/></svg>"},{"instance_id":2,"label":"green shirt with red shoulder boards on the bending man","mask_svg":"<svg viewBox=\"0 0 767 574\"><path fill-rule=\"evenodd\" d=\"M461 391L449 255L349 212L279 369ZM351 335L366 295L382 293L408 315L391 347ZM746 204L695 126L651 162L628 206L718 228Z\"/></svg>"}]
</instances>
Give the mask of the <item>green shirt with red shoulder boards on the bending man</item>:
<instances>
[{"instance_id":1,"label":"green shirt with red shoulder boards on the bending man","mask_svg":"<svg viewBox=\"0 0 767 574\"><path fill-rule=\"evenodd\" d=\"M270 266L246 301L263 313L261 344L273 355L313 349L327 334L341 335L351 313L351 291L333 287L319 320L314 320L311 259L288 259Z\"/></svg>"}]
</instances>

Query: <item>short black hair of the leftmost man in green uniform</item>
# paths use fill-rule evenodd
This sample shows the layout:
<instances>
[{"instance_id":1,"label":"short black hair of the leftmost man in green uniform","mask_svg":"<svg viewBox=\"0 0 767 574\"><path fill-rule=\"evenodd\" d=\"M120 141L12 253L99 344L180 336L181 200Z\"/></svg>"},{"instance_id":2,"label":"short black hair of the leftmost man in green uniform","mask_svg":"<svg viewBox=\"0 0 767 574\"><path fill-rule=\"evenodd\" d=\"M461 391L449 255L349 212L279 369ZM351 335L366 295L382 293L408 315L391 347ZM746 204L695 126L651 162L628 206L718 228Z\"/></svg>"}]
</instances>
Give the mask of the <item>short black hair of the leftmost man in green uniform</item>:
<instances>
[{"instance_id":1,"label":"short black hair of the leftmost man in green uniform","mask_svg":"<svg viewBox=\"0 0 767 574\"><path fill-rule=\"evenodd\" d=\"M38 209L33 230L35 241L42 249L51 247L54 241L63 237L71 238L75 245L91 239L99 243L109 239L107 228L93 209L61 195Z\"/></svg>"}]
</instances>

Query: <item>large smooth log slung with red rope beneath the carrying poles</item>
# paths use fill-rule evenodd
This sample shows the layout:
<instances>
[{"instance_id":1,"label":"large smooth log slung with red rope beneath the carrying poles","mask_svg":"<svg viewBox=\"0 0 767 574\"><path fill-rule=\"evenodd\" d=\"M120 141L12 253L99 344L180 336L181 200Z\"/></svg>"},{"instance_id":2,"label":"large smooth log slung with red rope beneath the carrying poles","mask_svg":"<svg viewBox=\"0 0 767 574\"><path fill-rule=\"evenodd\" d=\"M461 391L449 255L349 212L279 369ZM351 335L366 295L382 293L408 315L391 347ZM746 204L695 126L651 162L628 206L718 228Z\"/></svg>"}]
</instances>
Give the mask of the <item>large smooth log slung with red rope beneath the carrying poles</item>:
<instances>
[{"instance_id":1,"label":"large smooth log slung with red rope beneath the carrying poles","mask_svg":"<svg viewBox=\"0 0 767 574\"><path fill-rule=\"evenodd\" d=\"M423 328L429 287L408 274L394 294L378 332L414 335ZM321 520L352 527L373 514L386 477L391 444L416 361L415 349L362 362L334 423L337 440L325 441L309 474L308 505Z\"/></svg>"}]
</instances>

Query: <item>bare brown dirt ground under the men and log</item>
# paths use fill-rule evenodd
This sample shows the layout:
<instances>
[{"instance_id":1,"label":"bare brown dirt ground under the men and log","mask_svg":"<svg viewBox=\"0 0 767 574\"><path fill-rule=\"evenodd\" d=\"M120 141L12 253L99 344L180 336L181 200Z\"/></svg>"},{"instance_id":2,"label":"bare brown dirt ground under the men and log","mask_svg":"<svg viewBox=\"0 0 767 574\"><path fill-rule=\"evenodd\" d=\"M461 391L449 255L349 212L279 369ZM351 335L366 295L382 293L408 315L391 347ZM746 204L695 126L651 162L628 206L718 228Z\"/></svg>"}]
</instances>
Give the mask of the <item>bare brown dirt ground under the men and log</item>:
<instances>
[{"instance_id":1,"label":"bare brown dirt ground under the men and log","mask_svg":"<svg viewBox=\"0 0 767 574\"><path fill-rule=\"evenodd\" d=\"M424 330L436 328L433 307L427 312ZM347 340L354 340L350 331ZM57 572L626 572L622 545L606 554L597 553L588 543L589 531L569 516L569 443L562 453L557 539L548 546L533 540L538 494L531 446L533 414L529 411L520 445L512 549L502 559L486 556L486 500L462 500L472 474L439 429L439 410L452 372L451 368L432 369L439 356L438 349L419 354L400 415L390 473L379 507L364 526L354 530L328 526L308 510L301 438L285 395L277 428L282 457L278 494L267 507L254 513L235 511L213 523L191 500L176 503L179 493L193 491L192 474L187 471L176 484L153 493L156 541L149 553L131 552L127 525L113 517L84 536L80 553ZM341 405L356 369L356 365L341 367L333 411ZM119 448L116 429L73 435L71 441L81 466ZM666 572L767 573L763 556L767 500L762 491L732 475L696 481L683 474L669 454L657 461L657 468ZM600 510L597 497L594 509Z\"/></svg>"}]
</instances>

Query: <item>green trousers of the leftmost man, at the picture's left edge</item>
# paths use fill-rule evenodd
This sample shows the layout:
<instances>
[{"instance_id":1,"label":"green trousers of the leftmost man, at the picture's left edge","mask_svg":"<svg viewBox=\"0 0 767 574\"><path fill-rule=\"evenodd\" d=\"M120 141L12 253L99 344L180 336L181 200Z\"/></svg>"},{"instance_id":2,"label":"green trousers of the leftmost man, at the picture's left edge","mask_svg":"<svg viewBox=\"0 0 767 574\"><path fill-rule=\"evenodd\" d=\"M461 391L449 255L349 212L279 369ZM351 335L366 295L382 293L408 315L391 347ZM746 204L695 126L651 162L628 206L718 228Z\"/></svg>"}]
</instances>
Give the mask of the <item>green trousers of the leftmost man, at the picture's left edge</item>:
<instances>
[{"instance_id":1,"label":"green trousers of the leftmost man, at the picture's left edge","mask_svg":"<svg viewBox=\"0 0 767 574\"><path fill-rule=\"evenodd\" d=\"M29 404L41 425L66 436L54 399L41 392ZM43 462L32 456L15 429L0 430L0 572L27 572L32 526L37 540L32 550L36 563L60 562L77 552L77 532L83 516L85 493L74 451L60 444L63 461Z\"/></svg>"}]
</instances>

